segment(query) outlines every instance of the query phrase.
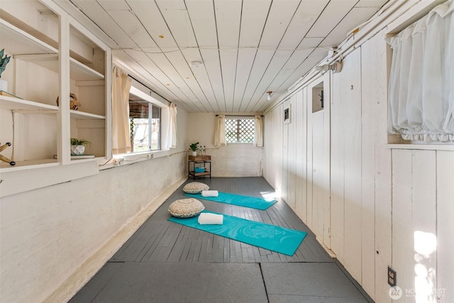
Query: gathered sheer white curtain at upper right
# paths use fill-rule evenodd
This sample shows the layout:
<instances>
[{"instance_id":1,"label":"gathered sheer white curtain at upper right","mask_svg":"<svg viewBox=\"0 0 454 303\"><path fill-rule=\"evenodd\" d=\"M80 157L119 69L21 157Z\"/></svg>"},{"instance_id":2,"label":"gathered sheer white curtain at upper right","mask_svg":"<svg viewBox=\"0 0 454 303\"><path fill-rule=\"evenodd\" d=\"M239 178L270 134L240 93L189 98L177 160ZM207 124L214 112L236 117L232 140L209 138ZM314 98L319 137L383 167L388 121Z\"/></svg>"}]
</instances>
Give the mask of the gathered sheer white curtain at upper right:
<instances>
[{"instance_id":1,"label":"gathered sheer white curtain at upper right","mask_svg":"<svg viewBox=\"0 0 454 303\"><path fill-rule=\"evenodd\" d=\"M389 38L389 133L454 141L454 2Z\"/></svg>"}]
</instances>

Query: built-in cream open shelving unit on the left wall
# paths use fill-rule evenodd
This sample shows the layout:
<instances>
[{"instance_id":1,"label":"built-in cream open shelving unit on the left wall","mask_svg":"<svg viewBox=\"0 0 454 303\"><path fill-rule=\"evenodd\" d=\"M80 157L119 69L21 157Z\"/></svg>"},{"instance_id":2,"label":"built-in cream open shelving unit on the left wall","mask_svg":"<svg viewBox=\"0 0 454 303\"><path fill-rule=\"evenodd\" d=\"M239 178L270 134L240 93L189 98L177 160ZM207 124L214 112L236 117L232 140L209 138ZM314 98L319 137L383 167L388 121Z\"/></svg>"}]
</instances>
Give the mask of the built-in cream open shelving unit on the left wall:
<instances>
[{"instance_id":1,"label":"built-in cream open shelving unit on the left wall","mask_svg":"<svg viewBox=\"0 0 454 303\"><path fill-rule=\"evenodd\" d=\"M16 165L2 161L0 172L104 162L111 157L110 48L50 1L13 2L2 4L0 16L0 48L11 56L1 75L8 91L0 94L0 144L12 143L1 155ZM70 93L77 110L67 105ZM72 160L70 138L90 141L85 153L95 158Z\"/></svg>"}]
</instances>

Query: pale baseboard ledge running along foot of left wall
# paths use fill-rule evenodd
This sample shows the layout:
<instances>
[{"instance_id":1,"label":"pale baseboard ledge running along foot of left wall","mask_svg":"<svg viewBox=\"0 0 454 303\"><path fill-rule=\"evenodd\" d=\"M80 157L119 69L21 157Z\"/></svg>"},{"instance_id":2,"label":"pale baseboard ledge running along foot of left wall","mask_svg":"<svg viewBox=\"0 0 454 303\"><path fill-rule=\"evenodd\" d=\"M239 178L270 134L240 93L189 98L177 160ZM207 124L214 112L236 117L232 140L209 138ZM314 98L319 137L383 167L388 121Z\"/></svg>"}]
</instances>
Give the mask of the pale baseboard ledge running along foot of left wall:
<instances>
[{"instance_id":1,"label":"pale baseboard ledge running along foot of left wall","mask_svg":"<svg viewBox=\"0 0 454 303\"><path fill-rule=\"evenodd\" d=\"M156 197L148 206L129 220L115 236L99 248L94 255L85 261L70 277L63 282L44 302L68 302L90 279L98 272L104 264L131 238L133 233L175 192L187 177L175 182Z\"/></svg>"}]
</instances>

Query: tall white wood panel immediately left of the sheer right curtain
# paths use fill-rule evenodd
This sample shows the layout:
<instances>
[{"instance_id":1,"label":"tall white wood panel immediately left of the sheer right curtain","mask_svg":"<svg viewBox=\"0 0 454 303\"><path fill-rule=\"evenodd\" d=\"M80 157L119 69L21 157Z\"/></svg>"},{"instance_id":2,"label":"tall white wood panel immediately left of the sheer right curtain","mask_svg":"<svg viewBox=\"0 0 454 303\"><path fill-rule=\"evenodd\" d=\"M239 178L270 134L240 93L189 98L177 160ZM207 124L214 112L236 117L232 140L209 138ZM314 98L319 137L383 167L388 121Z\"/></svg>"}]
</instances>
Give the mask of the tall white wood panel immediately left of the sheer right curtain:
<instances>
[{"instance_id":1,"label":"tall white wood panel immediately left of the sheer right curtain","mask_svg":"<svg viewBox=\"0 0 454 303\"><path fill-rule=\"evenodd\" d=\"M386 148L386 44L381 34L361 46L362 287L376 302L390 302L391 150ZM373 166L371 166L373 165ZM372 175L371 175L372 174Z\"/></svg>"}]
</instances>

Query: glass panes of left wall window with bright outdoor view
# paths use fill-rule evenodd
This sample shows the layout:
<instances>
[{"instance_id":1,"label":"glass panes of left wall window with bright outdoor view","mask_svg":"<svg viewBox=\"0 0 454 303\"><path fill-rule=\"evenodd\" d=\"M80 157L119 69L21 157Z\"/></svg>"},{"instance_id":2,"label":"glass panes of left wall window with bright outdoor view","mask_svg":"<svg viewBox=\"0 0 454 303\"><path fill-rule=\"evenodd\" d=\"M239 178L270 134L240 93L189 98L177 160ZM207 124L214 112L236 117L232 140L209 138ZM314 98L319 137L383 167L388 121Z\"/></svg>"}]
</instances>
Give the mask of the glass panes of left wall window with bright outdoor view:
<instances>
[{"instance_id":1,"label":"glass panes of left wall window with bright outdoor view","mask_svg":"<svg viewBox=\"0 0 454 303\"><path fill-rule=\"evenodd\" d=\"M131 153L160 150L161 109L129 95Z\"/></svg>"}]
</instances>

